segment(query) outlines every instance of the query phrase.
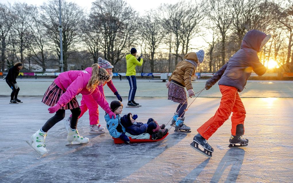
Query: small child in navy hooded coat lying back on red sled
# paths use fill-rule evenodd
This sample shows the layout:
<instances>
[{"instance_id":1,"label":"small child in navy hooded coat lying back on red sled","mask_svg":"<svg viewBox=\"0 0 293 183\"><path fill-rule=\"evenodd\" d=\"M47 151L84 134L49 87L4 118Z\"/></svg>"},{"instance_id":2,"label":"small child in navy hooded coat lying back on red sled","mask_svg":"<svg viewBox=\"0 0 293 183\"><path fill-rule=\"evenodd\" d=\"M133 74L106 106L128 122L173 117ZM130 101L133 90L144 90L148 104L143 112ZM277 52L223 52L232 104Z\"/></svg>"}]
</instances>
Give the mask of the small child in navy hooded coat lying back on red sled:
<instances>
[{"instance_id":1,"label":"small child in navy hooded coat lying back on red sled","mask_svg":"<svg viewBox=\"0 0 293 183\"><path fill-rule=\"evenodd\" d=\"M149 118L147 123L136 122L137 115L134 114L132 117L131 113L125 114L121 117L120 121L121 124L125 127L126 132L130 133L131 135L140 135L143 133L152 134L160 134L160 138L167 134L168 129L164 129L165 125L159 126L153 118ZM163 128L163 129L161 129Z\"/></svg>"}]
</instances>

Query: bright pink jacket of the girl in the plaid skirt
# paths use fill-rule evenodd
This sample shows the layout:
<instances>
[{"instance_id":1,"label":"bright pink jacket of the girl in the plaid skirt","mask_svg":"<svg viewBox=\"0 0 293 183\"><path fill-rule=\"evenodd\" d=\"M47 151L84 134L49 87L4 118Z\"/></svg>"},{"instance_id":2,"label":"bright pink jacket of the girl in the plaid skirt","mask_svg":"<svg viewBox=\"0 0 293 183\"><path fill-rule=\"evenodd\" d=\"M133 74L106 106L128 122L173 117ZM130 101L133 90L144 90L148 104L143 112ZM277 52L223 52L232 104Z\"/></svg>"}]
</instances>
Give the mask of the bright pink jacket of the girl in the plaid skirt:
<instances>
[{"instance_id":1,"label":"bright pink jacket of the girl in the plaid skirt","mask_svg":"<svg viewBox=\"0 0 293 183\"><path fill-rule=\"evenodd\" d=\"M96 90L93 92L90 92L88 89L86 89L86 85L91 78L91 74L91 67L86 68L84 71L67 71L59 74L54 82L59 88L65 91L65 93L61 95L57 103L63 106L78 94L92 95L93 99L96 100L98 105L100 105L103 110L109 113L111 111L109 104L100 93L98 88L96 88Z\"/></svg>"}]
</instances>

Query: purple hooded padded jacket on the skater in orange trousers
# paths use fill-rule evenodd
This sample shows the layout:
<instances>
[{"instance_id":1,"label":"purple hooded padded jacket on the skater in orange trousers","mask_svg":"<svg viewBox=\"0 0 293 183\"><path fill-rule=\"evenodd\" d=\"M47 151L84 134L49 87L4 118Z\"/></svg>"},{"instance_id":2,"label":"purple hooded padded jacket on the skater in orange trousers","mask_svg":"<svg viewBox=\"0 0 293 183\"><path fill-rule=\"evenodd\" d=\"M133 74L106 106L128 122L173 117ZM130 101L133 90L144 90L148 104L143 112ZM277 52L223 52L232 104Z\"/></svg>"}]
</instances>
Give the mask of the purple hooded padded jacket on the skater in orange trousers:
<instances>
[{"instance_id":1,"label":"purple hooded padded jacket on the skater in orange trousers","mask_svg":"<svg viewBox=\"0 0 293 183\"><path fill-rule=\"evenodd\" d=\"M257 55L265 37L266 34L259 30L248 31L243 37L241 49L207 83L214 85L219 81L218 85L233 86L241 92L252 70L259 76L265 74L266 68L260 63Z\"/></svg>"}]
</instances>

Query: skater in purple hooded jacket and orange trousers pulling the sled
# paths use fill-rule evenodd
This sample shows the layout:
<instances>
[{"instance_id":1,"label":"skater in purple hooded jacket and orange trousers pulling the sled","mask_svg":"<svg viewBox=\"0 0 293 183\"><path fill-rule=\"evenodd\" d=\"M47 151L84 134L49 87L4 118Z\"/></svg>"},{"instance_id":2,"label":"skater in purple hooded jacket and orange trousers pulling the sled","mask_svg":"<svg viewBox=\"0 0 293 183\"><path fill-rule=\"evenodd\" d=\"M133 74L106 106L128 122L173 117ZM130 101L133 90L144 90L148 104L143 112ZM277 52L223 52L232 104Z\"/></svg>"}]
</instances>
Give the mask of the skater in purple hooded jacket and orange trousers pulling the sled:
<instances>
[{"instance_id":1,"label":"skater in purple hooded jacket and orange trousers pulling the sled","mask_svg":"<svg viewBox=\"0 0 293 183\"><path fill-rule=\"evenodd\" d=\"M238 92L244 89L251 71L259 76L265 74L266 68L260 63L257 53L261 51L270 37L271 35L266 35L259 30L248 31L243 37L241 49L206 82L205 88L208 90L219 81L222 98L215 115L197 129L198 134L193 138L195 143L199 143L205 149L213 152L214 150L207 140L233 112L230 145L248 144L248 139L242 138L246 111Z\"/></svg>"}]
</instances>

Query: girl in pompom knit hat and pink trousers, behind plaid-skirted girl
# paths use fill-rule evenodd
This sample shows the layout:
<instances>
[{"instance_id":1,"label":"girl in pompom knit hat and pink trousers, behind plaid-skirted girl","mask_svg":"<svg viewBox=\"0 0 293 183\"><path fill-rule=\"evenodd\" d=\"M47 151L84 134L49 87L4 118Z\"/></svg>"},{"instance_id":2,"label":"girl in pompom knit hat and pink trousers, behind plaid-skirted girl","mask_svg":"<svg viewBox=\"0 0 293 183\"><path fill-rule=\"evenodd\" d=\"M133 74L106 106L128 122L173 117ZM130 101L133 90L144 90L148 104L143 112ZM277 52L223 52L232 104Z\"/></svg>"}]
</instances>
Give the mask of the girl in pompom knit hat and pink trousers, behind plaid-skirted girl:
<instances>
[{"instance_id":1,"label":"girl in pompom knit hat and pink trousers, behind plaid-skirted girl","mask_svg":"<svg viewBox=\"0 0 293 183\"><path fill-rule=\"evenodd\" d=\"M116 95L118 100L122 102L122 98L120 94L118 93L117 89L115 88L112 81L112 76L113 76L112 69L114 68L114 66L109 61L102 59L101 57L98 58L98 64L101 68L105 69L110 75L110 78L108 80L106 80L103 84L98 85L98 90L106 99L105 93L104 93L104 86L107 83L108 87L112 90L114 95ZM95 135L104 134L105 131L103 130L105 128L99 124L99 109L98 109L99 105L97 104L96 100L94 100L91 95L82 95L82 99L80 103L81 103L80 105L81 114L79 118L81 118L82 115L84 115L84 113L88 110L89 120L90 120L89 133L95 134ZM65 123L66 129L68 130L70 126L70 117L66 121L64 121L64 123Z\"/></svg>"}]
</instances>

